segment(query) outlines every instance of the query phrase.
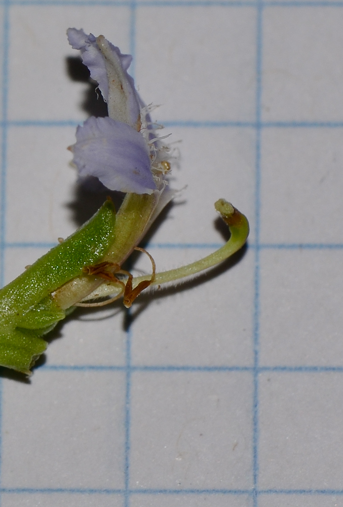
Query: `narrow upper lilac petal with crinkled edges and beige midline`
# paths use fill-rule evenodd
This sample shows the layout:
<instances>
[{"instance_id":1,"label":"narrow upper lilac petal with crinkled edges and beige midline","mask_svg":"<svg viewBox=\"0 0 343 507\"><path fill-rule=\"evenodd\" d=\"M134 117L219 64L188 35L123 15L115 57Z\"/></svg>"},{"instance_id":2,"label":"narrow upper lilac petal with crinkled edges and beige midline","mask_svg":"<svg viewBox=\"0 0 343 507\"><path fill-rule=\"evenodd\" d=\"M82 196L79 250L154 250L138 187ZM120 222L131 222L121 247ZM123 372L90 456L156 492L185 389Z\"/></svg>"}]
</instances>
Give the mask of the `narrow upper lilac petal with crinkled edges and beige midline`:
<instances>
[{"instance_id":1,"label":"narrow upper lilac petal with crinkled edges and beige midline","mask_svg":"<svg viewBox=\"0 0 343 507\"><path fill-rule=\"evenodd\" d=\"M87 35L82 29L76 28L68 28L67 35L71 47L81 51L91 78L99 83L99 89L108 104L109 116L139 130L140 99L134 81L127 73L132 56L123 55L102 35L95 38L92 33Z\"/></svg>"}]
</instances>

